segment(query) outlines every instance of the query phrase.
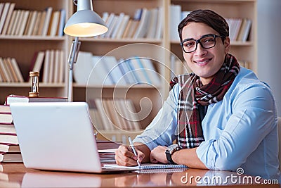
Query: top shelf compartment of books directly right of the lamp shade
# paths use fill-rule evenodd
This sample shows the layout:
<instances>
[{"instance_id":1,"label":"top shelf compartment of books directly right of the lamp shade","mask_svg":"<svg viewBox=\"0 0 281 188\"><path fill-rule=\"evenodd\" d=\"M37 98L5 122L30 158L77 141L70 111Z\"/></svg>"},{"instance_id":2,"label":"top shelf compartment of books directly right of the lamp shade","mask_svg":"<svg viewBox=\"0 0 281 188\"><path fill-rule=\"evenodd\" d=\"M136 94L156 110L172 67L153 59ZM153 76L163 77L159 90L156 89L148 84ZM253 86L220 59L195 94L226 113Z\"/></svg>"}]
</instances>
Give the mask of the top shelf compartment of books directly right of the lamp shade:
<instances>
[{"instance_id":1,"label":"top shelf compartment of books directly right of the lamp shade","mask_svg":"<svg viewBox=\"0 0 281 188\"><path fill-rule=\"evenodd\" d=\"M164 24L162 16L164 15L164 1L162 0L93 1L93 9L103 17L109 27L105 35L96 38L162 38L161 25Z\"/></svg>"}]
</instances>

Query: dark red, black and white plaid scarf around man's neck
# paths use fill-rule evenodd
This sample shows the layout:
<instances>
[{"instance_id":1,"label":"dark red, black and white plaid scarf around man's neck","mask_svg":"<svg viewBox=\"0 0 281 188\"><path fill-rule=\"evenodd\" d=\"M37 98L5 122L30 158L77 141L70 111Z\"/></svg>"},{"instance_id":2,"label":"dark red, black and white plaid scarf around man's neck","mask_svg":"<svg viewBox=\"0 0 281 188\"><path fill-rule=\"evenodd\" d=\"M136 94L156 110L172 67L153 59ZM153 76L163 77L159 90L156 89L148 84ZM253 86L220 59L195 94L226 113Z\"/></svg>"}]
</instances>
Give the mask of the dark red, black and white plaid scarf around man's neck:
<instances>
[{"instance_id":1,"label":"dark red, black and white plaid scarf around man's neck","mask_svg":"<svg viewBox=\"0 0 281 188\"><path fill-rule=\"evenodd\" d=\"M208 84L203 85L194 73L178 75L170 82L171 88L179 84L177 143L181 148L194 148L204 141L198 104L207 106L223 99L240 70L236 58L226 55L220 70Z\"/></svg>"}]
</instances>

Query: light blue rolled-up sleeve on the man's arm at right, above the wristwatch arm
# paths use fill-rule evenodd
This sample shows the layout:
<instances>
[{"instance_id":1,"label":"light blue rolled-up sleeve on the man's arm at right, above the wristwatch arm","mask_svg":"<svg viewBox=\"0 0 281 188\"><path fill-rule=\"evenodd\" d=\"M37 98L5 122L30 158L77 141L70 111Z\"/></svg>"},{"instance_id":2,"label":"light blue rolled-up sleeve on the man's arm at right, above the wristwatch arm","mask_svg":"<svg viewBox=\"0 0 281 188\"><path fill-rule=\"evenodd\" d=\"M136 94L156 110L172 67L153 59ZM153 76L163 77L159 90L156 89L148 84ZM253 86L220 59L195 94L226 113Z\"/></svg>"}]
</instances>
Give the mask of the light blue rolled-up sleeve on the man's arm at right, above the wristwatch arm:
<instances>
[{"instance_id":1,"label":"light blue rolled-up sleeve on the man's arm at right, above the wristwatch arm","mask_svg":"<svg viewBox=\"0 0 281 188\"><path fill-rule=\"evenodd\" d=\"M226 99L228 101L210 106L205 116L207 119L227 119L225 125L204 125L213 128L207 129L207 134L213 136L207 136L196 152L204 165L211 170L235 170L240 167L276 125L274 99L267 87L253 84L237 93L233 92L232 95L235 97L230 96ZM231 106L229 111L221 116L214 115L218 106L226 105Z\"/></svg>"}]
</instances>

